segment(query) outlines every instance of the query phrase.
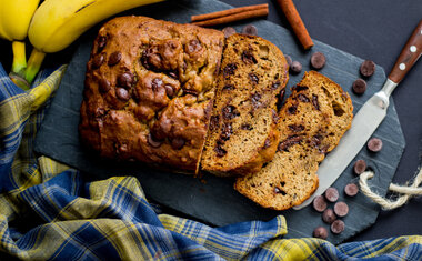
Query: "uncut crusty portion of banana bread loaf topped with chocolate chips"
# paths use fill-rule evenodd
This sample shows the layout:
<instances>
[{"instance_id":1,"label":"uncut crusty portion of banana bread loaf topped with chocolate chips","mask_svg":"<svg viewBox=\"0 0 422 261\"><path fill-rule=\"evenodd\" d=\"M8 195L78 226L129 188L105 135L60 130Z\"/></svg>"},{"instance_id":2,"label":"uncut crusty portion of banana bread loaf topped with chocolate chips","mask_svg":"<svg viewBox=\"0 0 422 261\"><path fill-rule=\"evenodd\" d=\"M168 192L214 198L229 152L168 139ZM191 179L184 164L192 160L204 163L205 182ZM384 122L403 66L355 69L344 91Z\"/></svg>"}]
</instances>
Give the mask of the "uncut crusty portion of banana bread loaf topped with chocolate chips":
<instances>
[{"instance_id":1,"label":"uncut crusty portion of banana bread loaf topped with chocolate chips","mask_svg":"<svg viewBox=\"0 0 422 261\"><path fill-rule=\"evenodd\" d=\"M107 22L87 64L82 143L105 158L198 170L223 41L145 17Z\"/></svg>"}]
</instances>

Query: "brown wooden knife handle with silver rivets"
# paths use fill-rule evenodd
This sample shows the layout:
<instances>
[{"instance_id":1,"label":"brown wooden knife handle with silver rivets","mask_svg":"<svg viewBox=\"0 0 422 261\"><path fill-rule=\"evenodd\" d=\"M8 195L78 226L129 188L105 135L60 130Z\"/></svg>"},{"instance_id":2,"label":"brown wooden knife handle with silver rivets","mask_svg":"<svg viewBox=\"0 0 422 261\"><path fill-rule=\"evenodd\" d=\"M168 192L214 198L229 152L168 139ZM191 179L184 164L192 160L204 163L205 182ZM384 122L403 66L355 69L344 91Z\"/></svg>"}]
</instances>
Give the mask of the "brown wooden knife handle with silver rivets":
<instances>
[{"instance_id":1,"label":"brown wooden knife handle with silver rivets","mask_svg":"<svg viewBox=\"0 0 422 261\"><path fill-rule=\"evenodd\" d=\"M413 67L422 54L422 20L414 29L412 36L409 38L402 52L400 53L393 69L389 74L389 79L395 83L403 80L408 71Z\"/></svg>"}]
</instances>

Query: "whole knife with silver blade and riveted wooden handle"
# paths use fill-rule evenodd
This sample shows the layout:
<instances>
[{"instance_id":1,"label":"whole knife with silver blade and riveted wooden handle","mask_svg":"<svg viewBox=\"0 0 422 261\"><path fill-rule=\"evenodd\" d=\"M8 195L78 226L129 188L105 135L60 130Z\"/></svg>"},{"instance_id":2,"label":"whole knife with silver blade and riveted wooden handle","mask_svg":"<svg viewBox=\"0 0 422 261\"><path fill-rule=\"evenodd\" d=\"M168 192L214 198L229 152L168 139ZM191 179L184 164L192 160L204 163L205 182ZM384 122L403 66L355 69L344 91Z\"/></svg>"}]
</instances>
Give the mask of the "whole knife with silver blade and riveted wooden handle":
<instances>
[{"instance_id":1,"label":"whole knife with silver blade and riveted wooden handle","mask_svg":"<svg viewBox=\"0 0 422 261\"><path fill-rule=\"evenodd\" d=\"M293 207L294 210L300 210L310 204L315 197L322 194L341 175L385 118L391 93L421 54L422 20L409 38L381 91L373 94L362 106L353 118L350 130L344 133L338 147L320 164L316 172L320 185L316 191L302 204Z\"/></svg>"}]
</instances>

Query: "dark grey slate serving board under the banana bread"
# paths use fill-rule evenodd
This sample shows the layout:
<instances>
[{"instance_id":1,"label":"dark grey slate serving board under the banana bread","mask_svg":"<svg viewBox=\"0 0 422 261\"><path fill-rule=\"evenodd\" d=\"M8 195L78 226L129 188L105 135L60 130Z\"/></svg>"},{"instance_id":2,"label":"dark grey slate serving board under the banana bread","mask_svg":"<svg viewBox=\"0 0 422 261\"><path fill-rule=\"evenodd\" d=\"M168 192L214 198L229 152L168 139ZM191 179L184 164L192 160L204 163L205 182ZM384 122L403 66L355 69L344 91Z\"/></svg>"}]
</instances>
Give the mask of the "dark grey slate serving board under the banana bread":
<instances>
[{"instance_id":1,"label":"dark grey slate serving board under the banana bread","mask_svg":"<svg viewBox=\"0 0 422 261\"><path fill-rule=\"evenodd\" d=\"M139 8L123 14L149 16L185 23L190 21L191 14L228 8L231 7L214 0L183 0ZM248 22L253 23L258 28L259 34L272 41L284 54L300 61L303 64L303 71L310 70L309 61L312 52L323 52L328 62L320 72L338 82L350 93L353 100L354 113L375 91L381 89L385 80L384 70L376 66L374 76L368 79L368 91L358 97L351 91L351 86L359 77L359 67L363 61L362 59L316 40L314 40L315 46L311 51L303 51L289 30L265 20ZM244 24L237 23L233 26L240 31ZM94 175L97 179L107 179L113 175L134 175L140 180L149 199L213 225L225 225L249 220L270 220L278 214L282 214L288 222L289 232L285 238L312 237L312 231L318 225L329 229L329 225L322 222L321 214L311 207L300 211L263 209L237 193L232 189L233 180L230 179L205 174L201 181L190 175L157 171L137 163L117 163L89 154L79 142L78 123L86 63L89 59L91 43L97 30L98 28L90 30L77 43L79 47L71 59L37 137L37 152L74 167L86 172L87 175ZM302 76L303 73L290 76L287 96L290 94L290 87L299 82ZM388 117L373 135L383 140L383 150L379 153L371 153L364 148L356 155L356 159L366 160L369 168L375 171L376 174L370 181L370 185L373 187L373 190L384 195L404 149L404 138L392 100ZM339 235L329 233L328 240L334 244L373 224L380 211L376 204L361 193L354 198L344 197L344 185L349 182L358 182L358 178L352 171L354 161L333 184L340 191L339 200L345 201L350 207L349 214L343 218L345 231Z\"/></svg>"}]
</instances>

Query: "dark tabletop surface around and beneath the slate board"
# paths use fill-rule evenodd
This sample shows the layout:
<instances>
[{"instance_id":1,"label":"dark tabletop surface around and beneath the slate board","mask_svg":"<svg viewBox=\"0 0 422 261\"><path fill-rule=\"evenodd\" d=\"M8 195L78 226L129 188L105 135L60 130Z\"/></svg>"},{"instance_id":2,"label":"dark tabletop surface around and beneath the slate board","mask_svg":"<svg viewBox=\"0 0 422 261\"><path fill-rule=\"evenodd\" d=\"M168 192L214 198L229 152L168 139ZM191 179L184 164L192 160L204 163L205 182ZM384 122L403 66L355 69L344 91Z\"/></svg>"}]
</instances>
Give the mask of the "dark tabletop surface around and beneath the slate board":
<instances>
[{"instance_id":1,"label":"dark tabletop surface around and beneath the slate board","mask_svg":"<svg viewBox=\"0 0 422 261\"><path fill-rule=\"evenodd\" d=\"M275 0L222 0L239 7L268 2L268 20L290 29ZM389 73L402 47L422 19L422 1L414 0L297 0L299 13L312 38L373 60ZM11 63L10 43L0 40L0 62L6 70ZM69 62L74 46L48 56L44 67ZM393 182L412 180L421 162L422 151L422 62L408 73L393 93L406 147ZM406 205L381 211L376 223L350 241L422 234L422 198Z\"/></svg>"}]
</instances>

